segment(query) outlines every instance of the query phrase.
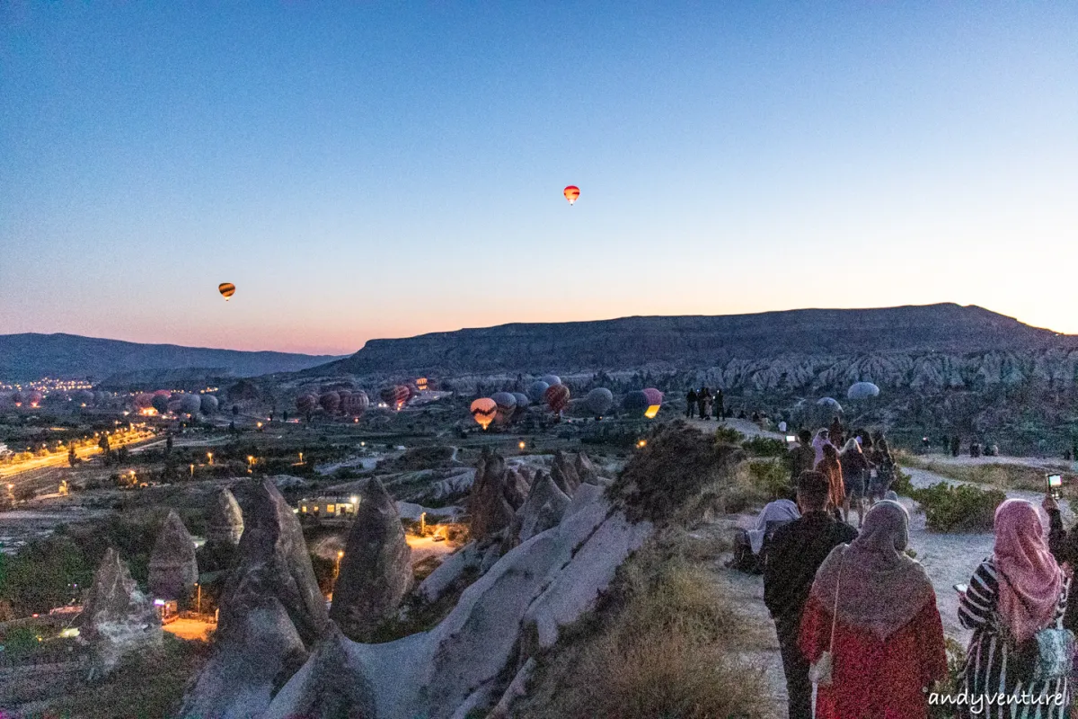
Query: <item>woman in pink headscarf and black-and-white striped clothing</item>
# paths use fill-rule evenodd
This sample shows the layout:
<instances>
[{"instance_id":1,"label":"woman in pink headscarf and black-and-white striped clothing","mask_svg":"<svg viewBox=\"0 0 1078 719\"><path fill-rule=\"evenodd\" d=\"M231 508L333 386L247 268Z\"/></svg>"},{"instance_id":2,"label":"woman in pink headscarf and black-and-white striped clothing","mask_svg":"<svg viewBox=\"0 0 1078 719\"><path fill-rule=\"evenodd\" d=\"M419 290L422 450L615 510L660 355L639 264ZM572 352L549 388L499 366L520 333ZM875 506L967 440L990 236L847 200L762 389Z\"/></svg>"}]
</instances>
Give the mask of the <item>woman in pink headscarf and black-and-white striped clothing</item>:
<instances>
[{"instance_id":1,"label":"woman in pink headscarf and black-and-white striped clothing","mask_svg":"<svg viewBox=\"0 0 1078 719\"><path fill-rule=\"evenodd\" d=\"M1000 504L995 534L993 555L973 572L958 603L958 621L973 630L960 689L971 702L1000 694L1009 701L969 704L959 707L960 716L1063 719L1070 705L1067 678L1033 681L1015 650L1040 630L1062 628L1067 606L1063 572L1032 503L1008 499Z\"/></svg>"}]
</instances>

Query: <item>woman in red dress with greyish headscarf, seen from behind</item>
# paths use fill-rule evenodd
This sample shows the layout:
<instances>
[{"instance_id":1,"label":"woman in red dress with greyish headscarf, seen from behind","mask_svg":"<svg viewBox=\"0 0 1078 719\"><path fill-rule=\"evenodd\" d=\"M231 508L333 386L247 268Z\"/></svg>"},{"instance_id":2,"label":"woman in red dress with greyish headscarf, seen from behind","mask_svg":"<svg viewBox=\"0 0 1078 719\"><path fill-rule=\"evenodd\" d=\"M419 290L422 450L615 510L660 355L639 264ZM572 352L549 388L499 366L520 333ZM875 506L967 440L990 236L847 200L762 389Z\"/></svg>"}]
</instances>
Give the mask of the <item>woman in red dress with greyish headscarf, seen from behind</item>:
<instances>
[{"instance_id":1,"label":"woman in red dress with greyish headscarf, seen from behind","mask_svg":"<svg viewBox=\"0 0 1078 719\"><path fill-rule=\"evenodd\" d=\"M876 502L857 539L837 547L816 572L800 645L810 662L832 652L831 686L819 687L816 699L819 719L928 716L927 691L946 675L946 651L936 592L903 552L909 523L898 502Z\"/></svg>"}]
</instances>

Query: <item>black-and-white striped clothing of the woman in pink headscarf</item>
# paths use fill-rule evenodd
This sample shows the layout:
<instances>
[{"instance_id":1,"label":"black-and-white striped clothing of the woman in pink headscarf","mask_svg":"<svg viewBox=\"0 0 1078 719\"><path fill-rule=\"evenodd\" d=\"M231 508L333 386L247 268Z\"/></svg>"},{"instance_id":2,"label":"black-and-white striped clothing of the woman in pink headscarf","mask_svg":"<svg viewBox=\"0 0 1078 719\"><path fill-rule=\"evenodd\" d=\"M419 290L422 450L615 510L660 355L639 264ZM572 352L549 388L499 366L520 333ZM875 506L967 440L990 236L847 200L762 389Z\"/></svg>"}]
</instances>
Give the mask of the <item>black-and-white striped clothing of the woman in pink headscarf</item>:
<instances>
[{"instance_id":1,"label":"black-and-white striped clothing of the woman in pink headscarf","mask_svg":"<svg viewBox=\"0 0 1078 719\"><path fill-rule=\"evenodd\" d=\"M981 563L969 580L969 590L958 603L958 621L973 630L969 640L966 666L959 680L958 691L968 693L970 701L977 697L1005 696L1022 697L1031 695L1039 701L989 704L983 700L983 713L972 714L970 705L959 716L977 719L1064 719L1070 703L1066 677L1051 681L1025 683L1008 674L1008 652L1013 651L1001 634L999 616L996 612L999 580L995 563L990 558ZM1066 584L1060 593L1055 611L1055 626L1062 628L1063 612L1067 605ZM1011 667L1013 668L1013 667ZM1056 696L1062 700L1056 701ZM973 708L980 708L973 706Z\"/></svg>"}]
</instances>

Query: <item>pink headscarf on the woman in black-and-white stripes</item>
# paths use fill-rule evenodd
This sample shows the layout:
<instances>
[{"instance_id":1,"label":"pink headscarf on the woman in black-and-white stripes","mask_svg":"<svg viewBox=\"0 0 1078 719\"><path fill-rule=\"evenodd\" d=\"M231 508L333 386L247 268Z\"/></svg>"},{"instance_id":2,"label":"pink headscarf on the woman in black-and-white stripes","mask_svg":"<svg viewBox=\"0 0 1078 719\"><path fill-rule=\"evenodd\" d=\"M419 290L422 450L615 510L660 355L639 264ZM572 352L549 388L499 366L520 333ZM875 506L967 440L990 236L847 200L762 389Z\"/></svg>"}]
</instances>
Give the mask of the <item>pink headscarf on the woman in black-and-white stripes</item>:
<instances>
[{"instance_id":1,"label":"pink headscarf on the woman in black-and-white stripes","mask_svg":"<svg viewBox=\"0 0 1078 719\"><path fill-rule=\"evenodd\" d=\"M999 614L1014 638L1024 641L1052 623L1063 576L1048 544L1037 509L1008 499L996 509L993 558L1000 573Z\"/></svg>"}]
</instances>

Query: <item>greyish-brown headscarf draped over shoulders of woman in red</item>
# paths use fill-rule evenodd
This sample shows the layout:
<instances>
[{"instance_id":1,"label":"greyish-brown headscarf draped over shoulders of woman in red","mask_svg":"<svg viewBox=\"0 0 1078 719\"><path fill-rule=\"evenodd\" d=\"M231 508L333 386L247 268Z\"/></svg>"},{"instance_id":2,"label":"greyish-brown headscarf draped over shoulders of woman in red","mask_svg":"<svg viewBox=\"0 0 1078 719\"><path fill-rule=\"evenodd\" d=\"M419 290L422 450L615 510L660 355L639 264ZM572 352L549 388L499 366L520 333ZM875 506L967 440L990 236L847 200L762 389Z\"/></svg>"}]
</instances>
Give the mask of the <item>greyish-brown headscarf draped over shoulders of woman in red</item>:
<instances>
[{"instance_id":1,"label":"greyish-brown headscarf draped over shoulders of woman in red","mask_svg":"<svg viewBox=\"0 0 1078 719\"><path fill-rule=\"evenodd\" d=\"M816 572L812 596L830 612L839 586L838 620L867 630L881 640L909 624L936 592L924 567L906 555L910 515L898 502L876 502L865 515L861 533L840 544Z\"/></svg>"}]
</instances>

